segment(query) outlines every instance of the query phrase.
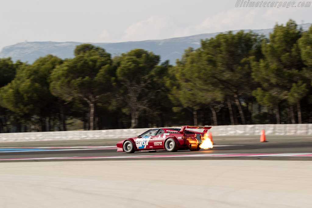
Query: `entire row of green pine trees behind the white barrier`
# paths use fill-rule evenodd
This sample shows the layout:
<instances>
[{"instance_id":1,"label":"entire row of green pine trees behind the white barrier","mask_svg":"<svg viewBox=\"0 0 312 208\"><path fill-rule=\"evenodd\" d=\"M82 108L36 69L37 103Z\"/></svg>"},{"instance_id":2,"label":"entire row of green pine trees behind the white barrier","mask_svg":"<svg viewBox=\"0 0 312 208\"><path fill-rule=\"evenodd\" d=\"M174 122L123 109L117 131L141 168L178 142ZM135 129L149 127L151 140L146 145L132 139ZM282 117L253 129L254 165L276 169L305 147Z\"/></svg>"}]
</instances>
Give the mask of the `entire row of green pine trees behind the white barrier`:
<instances>
[{"instance_id":1,"label":"entire row of green pine trees behind the white barrier","mask_svg":"<svg viewBox=\"0 0 312 208\"><path fill-rule=\"evenodd\" d=\"M202 40L175 66L144 49L112 59L82 44L74 54L0 59L0 133L44 131L46 119L50 130L312 123L312 27L292 20L269 39L229 31Z\"/></svg>"}]
</instances>

